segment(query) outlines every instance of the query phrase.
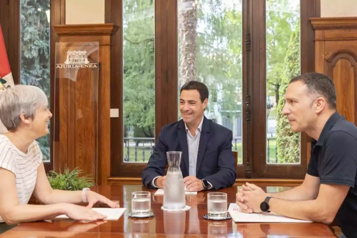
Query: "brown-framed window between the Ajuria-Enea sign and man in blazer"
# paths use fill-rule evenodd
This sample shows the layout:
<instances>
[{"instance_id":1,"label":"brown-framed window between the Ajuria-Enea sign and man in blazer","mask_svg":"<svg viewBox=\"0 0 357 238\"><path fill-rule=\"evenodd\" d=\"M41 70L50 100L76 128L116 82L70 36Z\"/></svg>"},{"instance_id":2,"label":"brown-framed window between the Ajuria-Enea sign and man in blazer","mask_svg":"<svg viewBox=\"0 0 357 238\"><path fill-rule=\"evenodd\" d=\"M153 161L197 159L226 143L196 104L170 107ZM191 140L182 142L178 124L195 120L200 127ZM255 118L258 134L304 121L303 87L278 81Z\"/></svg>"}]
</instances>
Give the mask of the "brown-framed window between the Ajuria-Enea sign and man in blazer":
<instances>
[{"instance_id":1,"label":"brown-framed window between the Ajuria-Enea sign and man in blazer","mask_svg":"<svg viewBox=\"0 0 357 238\"><path fill-rule=\"evenodd\" d=\"M120 29L112 37L116 53L111 61L115 75L111 107L119 108L119 118L111 118L112 176L140 176L137 170L149 161L155 145L160 121L155 99L160 93L155 79L155 4L154 0L119 0L107 7L115 12L110 21Z\"/></svg>"}]
</instances>

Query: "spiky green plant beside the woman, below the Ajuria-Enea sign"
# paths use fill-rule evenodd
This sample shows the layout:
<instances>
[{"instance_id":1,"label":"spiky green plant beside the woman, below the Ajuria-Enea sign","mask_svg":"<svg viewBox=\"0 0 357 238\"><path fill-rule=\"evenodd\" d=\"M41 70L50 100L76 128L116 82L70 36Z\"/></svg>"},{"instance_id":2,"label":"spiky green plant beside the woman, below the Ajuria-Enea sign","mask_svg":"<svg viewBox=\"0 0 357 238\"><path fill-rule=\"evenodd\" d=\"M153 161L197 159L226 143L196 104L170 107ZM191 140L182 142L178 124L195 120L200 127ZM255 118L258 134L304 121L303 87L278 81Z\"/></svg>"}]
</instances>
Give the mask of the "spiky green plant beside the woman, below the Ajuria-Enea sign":
<instances>
[{"instance_id":1,"label":"spiky green plant beside the woman, below the Ajuria-Enea sign","mask_svg":"<svg viewBox=\"0 0 357 238\"><path fill-rule=\"evenodd\" d=\"M81 173L82 170L78 168L73 170L66 168L64 173L51 170L47 174L47 178L53 189L78 191L94 186L92 177L89 175L79 176Z\"/></svg>"}]
</instances>

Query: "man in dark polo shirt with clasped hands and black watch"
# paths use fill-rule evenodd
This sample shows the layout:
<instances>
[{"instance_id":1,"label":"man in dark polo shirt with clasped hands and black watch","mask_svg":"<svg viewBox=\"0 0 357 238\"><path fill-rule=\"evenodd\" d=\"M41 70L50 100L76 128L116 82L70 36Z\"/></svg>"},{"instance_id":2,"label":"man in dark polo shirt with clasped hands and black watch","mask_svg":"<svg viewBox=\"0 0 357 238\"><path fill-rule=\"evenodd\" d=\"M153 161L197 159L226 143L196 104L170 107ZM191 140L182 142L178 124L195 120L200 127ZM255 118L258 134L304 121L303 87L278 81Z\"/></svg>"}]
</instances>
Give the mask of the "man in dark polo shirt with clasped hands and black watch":
<instances>
[{"instance_id":1,"label":"man in dark polo shirt with clasped hands and black watch","mask_svg":"<svg viewBox=\"0 0 357 238\"><path fill-rule=\"evenodd\" d=\"M341 237L357 237L357 127L336 111L333 81L319 73L293 78L282 113L293 132L313 138L305 180L271 194L246 183L237 193L238 206L247 213L271 211L326 224L335 220Z\"/></svg>"}]
</instances>

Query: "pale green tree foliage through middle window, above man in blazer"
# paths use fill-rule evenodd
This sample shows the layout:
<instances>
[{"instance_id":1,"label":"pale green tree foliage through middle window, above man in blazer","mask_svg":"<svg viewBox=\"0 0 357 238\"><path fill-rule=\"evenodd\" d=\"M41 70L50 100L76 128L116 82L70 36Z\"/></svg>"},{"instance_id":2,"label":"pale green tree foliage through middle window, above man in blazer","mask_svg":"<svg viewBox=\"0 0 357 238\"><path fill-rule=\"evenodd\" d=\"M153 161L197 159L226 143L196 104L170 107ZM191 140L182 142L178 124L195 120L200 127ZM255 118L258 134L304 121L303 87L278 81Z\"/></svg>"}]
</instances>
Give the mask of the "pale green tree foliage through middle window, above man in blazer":
<instances>
[{"instance_id":1,"label":"pale green tree foliage through middle window, above man in blazer","mask_svg":"<svg viewBox=\"0 0 357 238\"><path fill-rule=\"evenodd\" d=\"M195 39L197 72L194 74L196 77L190 80L201 81L207 85L210 91L207 112L213 112L213 105L218 104L220 110L225 111L225 116L234 118L236 112L241 110L242 12L238 4L227 6L221 0L201 2L197 7ZM192 21L187 24L190 30ZM184 40L179 39L179 44L187 44ZM185 65L192 65L192 57L185 56L192 56L190 51L181 50L179 54L180 59L188 59ZM180 64L183 64L182 60ZM183 72L183 69L187 72ZM181 75L192 75L188 72L190 70L190 67L181 68ZM185 81L183 79L180 77L181 85L182 81ZM221 92L222 97L217 97L217 92Z\"/></svg>"}]
</instances>

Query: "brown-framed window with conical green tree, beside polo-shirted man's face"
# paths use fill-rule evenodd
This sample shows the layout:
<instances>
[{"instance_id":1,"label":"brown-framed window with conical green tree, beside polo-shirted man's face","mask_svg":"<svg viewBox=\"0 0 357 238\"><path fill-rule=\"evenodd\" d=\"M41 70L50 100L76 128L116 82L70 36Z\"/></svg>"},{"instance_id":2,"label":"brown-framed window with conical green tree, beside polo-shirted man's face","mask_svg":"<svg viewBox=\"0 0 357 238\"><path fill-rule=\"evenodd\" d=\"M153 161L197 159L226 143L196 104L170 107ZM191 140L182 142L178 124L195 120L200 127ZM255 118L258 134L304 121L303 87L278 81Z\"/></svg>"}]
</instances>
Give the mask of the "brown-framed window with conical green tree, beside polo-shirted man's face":
<instances>
[{"instance_id":1,"label":"brown-framed window with conical green tree, beside polo-shirted man's face","mask_svg":"<svg viewBox=\"0 0 357 238\"><path fill-rule=\"evenodd\" d=\"M306 135L291 132L282 108L290 79L314 70L313 65L306 65L307 57L303 54L308 46L313 46L307 9L314 2L258 2L252 6L252 20L259 23L259 31L254 28L252 32L253 67L258 67L252 71L253 77L248 78L253 84L254 130L253 155L248 158L252 164L250 174L260 178L303 178L307 170ZM254 19L254 14L260 17ZM256 51L259 56L254 55Z\"/></svg>"}]
</instances>

